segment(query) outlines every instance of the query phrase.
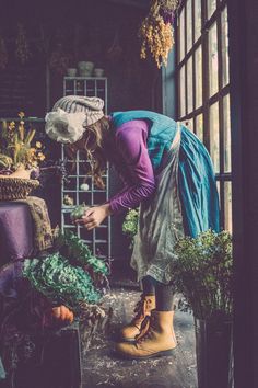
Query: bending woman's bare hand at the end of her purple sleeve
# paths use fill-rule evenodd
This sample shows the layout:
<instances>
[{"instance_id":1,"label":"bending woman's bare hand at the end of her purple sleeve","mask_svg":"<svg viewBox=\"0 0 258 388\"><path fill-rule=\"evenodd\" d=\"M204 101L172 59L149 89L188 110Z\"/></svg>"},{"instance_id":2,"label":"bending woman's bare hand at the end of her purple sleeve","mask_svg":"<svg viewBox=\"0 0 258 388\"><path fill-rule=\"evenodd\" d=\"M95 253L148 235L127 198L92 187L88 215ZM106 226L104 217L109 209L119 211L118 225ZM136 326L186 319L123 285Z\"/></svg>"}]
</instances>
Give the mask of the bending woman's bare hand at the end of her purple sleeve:
<instances>
[{"instance_id":1,"label":"bending woman's bare hand at the end of her purple sleeve","mask_svg":"<svg viewBox=\"0 0 258 388\"><path fill-rule=\"evenodd\" d=\"M75 224L83 225L87 230L92 230L98 227L110 214L109 204L94 206L87 209L81 219L75 220Z\"/></svg>"}]
</instances>

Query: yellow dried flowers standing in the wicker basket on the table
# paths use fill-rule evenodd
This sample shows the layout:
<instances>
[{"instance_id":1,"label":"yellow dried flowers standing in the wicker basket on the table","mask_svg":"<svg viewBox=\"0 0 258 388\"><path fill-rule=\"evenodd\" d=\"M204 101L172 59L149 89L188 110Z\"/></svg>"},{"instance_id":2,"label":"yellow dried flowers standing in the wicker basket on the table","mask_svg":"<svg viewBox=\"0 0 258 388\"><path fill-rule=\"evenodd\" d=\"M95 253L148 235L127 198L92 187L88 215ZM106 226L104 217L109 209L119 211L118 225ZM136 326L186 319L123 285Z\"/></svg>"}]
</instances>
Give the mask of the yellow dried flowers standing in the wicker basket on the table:
<instances>
[{"instance_id":1,"label":"yellow dried flowers standing in the wicker basket on the table","mask_svg":"<svg viewBox=\"0 0 258 388\"><path fill-rule=\"evenodd\" d=\"M3 122L0 134L0 169L16 171L20 168L32 169L45 160L43 145L36 141L35 129L26 129L24 113L19 113L20 122Z\"/></svg>"}]
</instances>

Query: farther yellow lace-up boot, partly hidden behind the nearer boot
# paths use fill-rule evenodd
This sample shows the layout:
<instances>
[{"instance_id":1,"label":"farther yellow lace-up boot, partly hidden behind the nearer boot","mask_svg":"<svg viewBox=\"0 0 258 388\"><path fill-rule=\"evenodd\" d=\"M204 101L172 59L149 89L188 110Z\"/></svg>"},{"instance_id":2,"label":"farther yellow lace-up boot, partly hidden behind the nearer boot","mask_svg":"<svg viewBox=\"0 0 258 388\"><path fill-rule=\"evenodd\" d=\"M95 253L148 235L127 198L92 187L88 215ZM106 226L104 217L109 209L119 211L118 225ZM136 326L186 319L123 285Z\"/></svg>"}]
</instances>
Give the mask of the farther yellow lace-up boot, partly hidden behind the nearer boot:
<instances>
[{"instance_id":1,"label":"farther yellow lace-up boot, partly hidden behind the nearer boot","mask_svg":"<svg viewBox=\"0 0 258 388\"><path fill-rule=\"evenodd\" d=\"M138 301L137 307L134 309L136 317L132 321L121 329L120 339L124 342L134 342L136 336L141 333L143 321L146 322L144 324L144 332L148 330L149 324L146 317L151 316L151 311L155 308L155 296L154 295L141 295L141 300Z\"/></svg>"}]
</instances>

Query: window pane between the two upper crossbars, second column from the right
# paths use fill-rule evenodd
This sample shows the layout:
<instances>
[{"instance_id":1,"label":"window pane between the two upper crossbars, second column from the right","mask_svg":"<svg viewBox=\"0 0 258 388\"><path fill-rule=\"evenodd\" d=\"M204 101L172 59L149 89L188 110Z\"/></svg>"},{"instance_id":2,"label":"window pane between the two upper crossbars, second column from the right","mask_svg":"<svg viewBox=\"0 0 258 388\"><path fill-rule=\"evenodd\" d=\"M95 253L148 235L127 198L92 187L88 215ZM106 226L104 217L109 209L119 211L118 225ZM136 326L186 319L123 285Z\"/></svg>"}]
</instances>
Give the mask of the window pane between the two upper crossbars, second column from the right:
<instances>
[{"instance_id":1,"label":"window pane between the two upper crossbars, second column from the right","mask_svg":"<svg viewBox=\"0 0 258 388\"><path fill-rule=\"evenodd\" d=\"M209 79L210 96L215 94L219 89L219 65L218 65L218 38L216 24L214 23L209 31Z\"/></svg>"}]
</instances>

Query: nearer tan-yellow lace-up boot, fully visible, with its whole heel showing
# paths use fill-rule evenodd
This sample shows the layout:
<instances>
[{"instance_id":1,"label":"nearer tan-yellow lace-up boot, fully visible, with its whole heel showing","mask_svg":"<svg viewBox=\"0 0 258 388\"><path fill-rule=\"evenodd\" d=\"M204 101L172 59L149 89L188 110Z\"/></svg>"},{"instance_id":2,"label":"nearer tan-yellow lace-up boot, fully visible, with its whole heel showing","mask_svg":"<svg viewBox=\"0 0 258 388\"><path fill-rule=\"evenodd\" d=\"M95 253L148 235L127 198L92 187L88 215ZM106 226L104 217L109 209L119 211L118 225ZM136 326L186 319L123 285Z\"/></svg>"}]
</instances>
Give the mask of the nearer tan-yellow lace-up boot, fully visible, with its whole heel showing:
<instances>
[{"instance_id":1,"label":"nearer tan-yellow lace-up boot, fully visible, with its whole heel showing","mask_svg":"<svg viewBox=\"0 0 258 388\"><path fill-rule=\"evenodd\" d=\"M177 345L173 318L174 311L153 310L148 332L139 335L134 343L118 343L117 352L125 358L133 360L172 355Z\"/></svg>"}]
</instances>

